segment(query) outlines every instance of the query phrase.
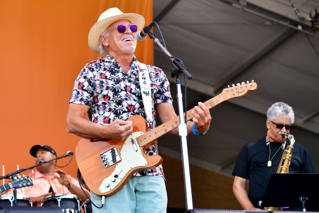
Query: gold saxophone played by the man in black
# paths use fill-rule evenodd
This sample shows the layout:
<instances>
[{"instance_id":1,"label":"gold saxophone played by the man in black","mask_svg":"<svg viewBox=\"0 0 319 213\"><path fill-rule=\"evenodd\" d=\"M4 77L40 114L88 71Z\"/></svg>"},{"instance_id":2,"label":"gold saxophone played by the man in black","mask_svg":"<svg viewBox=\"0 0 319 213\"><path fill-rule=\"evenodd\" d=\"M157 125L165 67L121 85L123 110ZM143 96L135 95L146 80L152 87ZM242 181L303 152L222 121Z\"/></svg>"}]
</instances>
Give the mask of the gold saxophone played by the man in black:
<instances>
[{"instance_id":1,"label":"gold saxophone played by the man in black","mask_svg":"<svg viewBox=\"0 0 319 213\"><path fill-rule=\"evenodd\" d=\"M290 145L287 146L287 149L285 149L284 153L282 154L277 173L288 173L291 156L293 155L293 144L295 143L295 139L293 138L293 135L287 135L287 133L282 133L281 136L285 139L289 139ZM264 207L263 210L279 211L280 207Z\"/></svg>"}]
</instances>

